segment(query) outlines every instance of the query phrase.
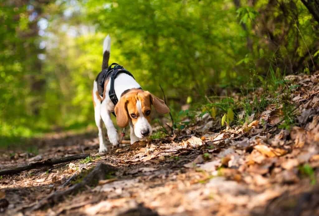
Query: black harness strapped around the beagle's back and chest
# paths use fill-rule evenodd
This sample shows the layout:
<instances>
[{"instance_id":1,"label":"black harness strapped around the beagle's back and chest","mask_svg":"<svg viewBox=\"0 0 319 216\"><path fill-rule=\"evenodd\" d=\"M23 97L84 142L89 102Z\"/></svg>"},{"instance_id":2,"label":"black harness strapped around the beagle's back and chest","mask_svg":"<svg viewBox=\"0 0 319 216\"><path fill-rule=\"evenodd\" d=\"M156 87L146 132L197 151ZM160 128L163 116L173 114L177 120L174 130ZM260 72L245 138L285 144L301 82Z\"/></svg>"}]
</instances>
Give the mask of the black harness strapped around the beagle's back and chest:
<instances>
[{"instance_id":1,"label":"black harness strapped around the beagle's back and chest","mask_svg":"<svg viewBox=\"0 0 319 216\"><path fill-rule=\"evenodd\" d=\"M112 66L114 66L112 68ZM101 71L100 76L98 79L100 80L100 83L98 85L98 91L100 96L103 97L103 92L104 92L104 83L106 81L106 79L110 77L110 91L108 92L108 96L110 97L111 101L113 102L114 105L117 104L117 102L119 101L116 94L115 94L115 89L114 89L114 80L117 77L117 75L119 75L120 73L126 73L128 75L130 75L131 77L134 78L134 76L127 70L125 70L125 68L117 63L112 63L107 69L104 69Z\"/></svg>"}]
</instances>

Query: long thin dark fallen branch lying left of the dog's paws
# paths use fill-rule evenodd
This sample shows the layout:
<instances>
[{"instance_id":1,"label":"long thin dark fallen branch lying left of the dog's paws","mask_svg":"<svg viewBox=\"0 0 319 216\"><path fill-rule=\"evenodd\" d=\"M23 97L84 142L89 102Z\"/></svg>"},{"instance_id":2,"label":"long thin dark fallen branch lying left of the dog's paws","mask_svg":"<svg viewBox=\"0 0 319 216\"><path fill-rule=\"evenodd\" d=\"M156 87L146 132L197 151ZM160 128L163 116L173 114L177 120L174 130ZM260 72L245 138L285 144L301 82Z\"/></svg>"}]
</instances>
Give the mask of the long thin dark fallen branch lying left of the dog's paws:
<instances>
[{"instance_id":1,"label":"long thin dark fallen branch lying left of the dog's paws","mask_svg":"<svg viewBox=\"0 0 319 216\"><path fill-rule=\"evenodd\" d=\"M32 163L28 163L28 164L25 164L25 165L17 166L17 167L14 167L14 168L12 167L12 168L7 168L7 169L0 170L0 175L8 175L8 174L20 173L22 171L34 169L34 168L41 167L41 166L52 166L52 165L55 165L55 164L69 162L69 161L72 161L72 160L83 159L83 158L86 158L89 155L90 154L72 155L72 156L64 157L64 158L53 158L53 159L51 158L51 159L48 159L48 160L32 162Z\"/></svg>"}]
</instances>

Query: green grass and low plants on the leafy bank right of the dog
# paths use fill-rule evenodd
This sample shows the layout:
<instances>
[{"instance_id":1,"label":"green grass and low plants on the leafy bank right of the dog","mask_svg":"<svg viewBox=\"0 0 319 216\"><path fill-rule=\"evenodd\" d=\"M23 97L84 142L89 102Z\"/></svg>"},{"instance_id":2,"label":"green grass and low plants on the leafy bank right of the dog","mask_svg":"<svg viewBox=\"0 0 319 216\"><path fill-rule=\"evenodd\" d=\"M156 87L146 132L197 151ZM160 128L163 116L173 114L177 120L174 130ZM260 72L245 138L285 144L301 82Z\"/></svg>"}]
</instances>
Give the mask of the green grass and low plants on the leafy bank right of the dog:
<instances>
[{"instance_id":1,"label":"green grass and low plants on the leafy bank right of the dog","mask_svg":"<svg viewBox=\"0 0 319 216\"><path fill-rule=\"evenodd\" d=\"M279 68L269 67L265 77L251 70L251 82L241 87L241 93L236 98L232 96L205 96L205 102L192 104L188 110L173 112L173 129L181 130L197 124L206 113L213 120L219 120L221 126L242 125L257 119L268 107L281 109L282 118L279 128L290 129L296 123L296 106L291 103L291 93L299 85L289 84L284 80L285 72ZM227 92L227 91L226 91ZM153 137L162 137L169 134L167 130L161 130L160 134Z\"/></svg>"}]
</instances>

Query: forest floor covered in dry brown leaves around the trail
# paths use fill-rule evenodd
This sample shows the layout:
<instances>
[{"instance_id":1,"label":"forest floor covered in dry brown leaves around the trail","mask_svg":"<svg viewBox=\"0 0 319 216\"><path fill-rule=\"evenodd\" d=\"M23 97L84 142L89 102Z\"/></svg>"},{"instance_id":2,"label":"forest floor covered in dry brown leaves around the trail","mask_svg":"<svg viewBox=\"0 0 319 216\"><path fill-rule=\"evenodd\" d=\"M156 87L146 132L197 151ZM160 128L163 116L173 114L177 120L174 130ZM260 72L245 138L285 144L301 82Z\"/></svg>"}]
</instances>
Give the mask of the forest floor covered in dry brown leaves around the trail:
<instances>
[{"instance_id":1,"label":"forest floor covered in dry brown leaves around the trail","mask_svg":"<svg viewBox=\"0 0 319 216\"><path fill-rule=\"evenodd\" d=\"M90 154L2 175L1 214L319 215L319 73L285 80L298 85L290 95L295 109L288 114L297 118L290 131L278 128L283 108L269 105L250 124L215 130L220 119L204 115L175 135L103 155L97 154L95 133L38 140L41 157L1 151L1 170L37 159ZM103 175L52 198L86 181L100 163L107 165L98 170Z\"/></svg>"}]
</instances>

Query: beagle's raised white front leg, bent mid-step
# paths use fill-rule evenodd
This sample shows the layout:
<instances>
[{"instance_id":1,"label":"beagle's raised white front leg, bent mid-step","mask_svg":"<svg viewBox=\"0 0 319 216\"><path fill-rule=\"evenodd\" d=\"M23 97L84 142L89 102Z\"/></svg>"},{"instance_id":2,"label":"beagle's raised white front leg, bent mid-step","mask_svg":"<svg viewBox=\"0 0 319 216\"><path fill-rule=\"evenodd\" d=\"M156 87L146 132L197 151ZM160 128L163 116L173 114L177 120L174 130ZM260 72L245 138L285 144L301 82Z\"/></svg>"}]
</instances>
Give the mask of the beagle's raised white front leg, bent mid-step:
<instances>
[{"instance_id":1,"label":"beagle's raised white front leg, bent mid-step","mask_svg":"<svg viewBox=\"0 0 319 216\"><path fill-rule=\"evenodd\" d=\"M108 139L113 146L118 145L118 134L111 120L111 112L107 109L105 100L102 102L101 117L108 131Z\"/></svg>"}]
</instances>

